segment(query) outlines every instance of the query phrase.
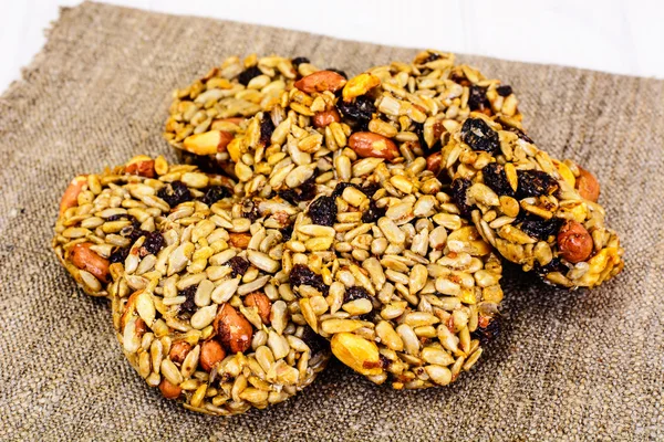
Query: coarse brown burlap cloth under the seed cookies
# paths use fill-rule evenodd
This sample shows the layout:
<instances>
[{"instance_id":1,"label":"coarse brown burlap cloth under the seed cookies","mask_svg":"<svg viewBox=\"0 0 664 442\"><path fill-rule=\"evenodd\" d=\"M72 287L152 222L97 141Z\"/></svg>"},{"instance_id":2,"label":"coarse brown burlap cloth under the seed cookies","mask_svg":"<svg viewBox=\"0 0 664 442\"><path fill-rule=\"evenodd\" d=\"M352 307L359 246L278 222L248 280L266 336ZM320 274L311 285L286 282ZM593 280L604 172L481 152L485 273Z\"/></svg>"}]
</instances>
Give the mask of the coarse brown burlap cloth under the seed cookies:
<instances>
[{"instance_id":1,"label":"coarse brown burlap cloth under the seed cookies","mask_svg":"<svg viewBox=\"0 0 664 442\"><path fill-rule=\"evenodd\" d=\"M250 52L359 73L416 51L84 3L63 10L2 95L0 438L664 439L664 82L478 56L463 60L516 88L541 147L598 175L624 273L570 293L508 271L502 335L448 388L396 392L335 362L286 404L232 419L149 389L106 302L76 290L49 249L58 201L76 173L134 154L173 158L162 139L170 91Z\"/></svg>"}]
</instances>

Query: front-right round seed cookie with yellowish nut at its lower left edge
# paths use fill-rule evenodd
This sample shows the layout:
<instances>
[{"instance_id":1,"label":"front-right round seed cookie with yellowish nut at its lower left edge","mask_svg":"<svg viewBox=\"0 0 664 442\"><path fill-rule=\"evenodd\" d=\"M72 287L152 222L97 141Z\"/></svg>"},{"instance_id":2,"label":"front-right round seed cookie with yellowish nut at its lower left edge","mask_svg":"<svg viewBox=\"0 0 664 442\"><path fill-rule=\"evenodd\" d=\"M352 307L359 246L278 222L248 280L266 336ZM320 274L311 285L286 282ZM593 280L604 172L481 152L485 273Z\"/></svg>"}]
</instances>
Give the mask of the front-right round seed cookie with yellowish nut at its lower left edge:
<instances>
[{"instance_id":1,"label":"front-right round seed cookie with yellowish nut at its lower left edge","mask_svg":"<svg viewBox=\"0 0 664 442\"><path fill-rule=\"evenodd\" d=\"M502 299L499 257L425 167L357 161L356 178L330 182L284 244L308 324L345 365L395 389L469 370Z\"/></svg>"}]
</instances>

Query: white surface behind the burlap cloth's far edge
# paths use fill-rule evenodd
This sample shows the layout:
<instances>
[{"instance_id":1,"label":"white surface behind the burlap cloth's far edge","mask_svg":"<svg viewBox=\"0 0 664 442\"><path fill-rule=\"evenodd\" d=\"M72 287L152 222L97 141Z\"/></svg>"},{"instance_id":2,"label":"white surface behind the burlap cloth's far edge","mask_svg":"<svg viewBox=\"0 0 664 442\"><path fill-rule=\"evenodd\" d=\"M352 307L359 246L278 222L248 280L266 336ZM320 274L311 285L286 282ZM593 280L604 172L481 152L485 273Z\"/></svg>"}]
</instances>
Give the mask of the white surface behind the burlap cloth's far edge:
<instances>
[{"instance_id":1,"label":"white surface behind the burlap cloth's far edge","mask_svg":"<svg viewBox=\"0 0 664 442\"><path fill-rule=\"evenodd\" d=\"M153 11L278 25L664 78L663 0L106 0ZM0 0L0 91L41 49L60 6Z\"/></svg>"}]
</instances>

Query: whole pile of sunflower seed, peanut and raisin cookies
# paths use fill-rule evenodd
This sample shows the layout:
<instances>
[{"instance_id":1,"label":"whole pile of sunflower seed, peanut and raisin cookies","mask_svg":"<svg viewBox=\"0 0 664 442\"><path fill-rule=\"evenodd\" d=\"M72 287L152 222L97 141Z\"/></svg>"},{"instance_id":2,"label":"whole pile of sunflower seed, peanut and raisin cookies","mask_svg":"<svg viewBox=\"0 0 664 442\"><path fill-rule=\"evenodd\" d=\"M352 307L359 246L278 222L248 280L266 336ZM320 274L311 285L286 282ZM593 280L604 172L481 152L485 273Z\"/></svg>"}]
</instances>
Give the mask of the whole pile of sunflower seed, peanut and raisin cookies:
<instances>
[{"instance_id":1,"label":"whole pile of sunflower seed, peanut and raisin cookies","mask_svg":"<svg viewBox=\"0 0 664 442\"><path fill-rule=\"evenodd\" d=\"M593 175L540 150L512 88L452 54L351 78L230 57L169 114L181 164L74 178L53 248L188 409L281 402L331 354L375 383L445 386L499 330L504 260L569 288L622 270Z\"/></svg>"}]
</instances>

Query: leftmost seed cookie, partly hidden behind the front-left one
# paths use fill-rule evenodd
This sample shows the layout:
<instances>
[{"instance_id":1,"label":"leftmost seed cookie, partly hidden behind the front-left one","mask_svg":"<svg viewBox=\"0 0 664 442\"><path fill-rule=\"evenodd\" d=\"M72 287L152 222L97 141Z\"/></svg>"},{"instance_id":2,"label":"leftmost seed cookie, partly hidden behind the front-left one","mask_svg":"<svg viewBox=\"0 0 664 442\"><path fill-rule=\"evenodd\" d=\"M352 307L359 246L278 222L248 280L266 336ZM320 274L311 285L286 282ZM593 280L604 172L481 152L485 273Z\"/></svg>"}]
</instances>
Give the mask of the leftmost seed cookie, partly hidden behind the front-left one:
<instances>
[{"instance_id":1,"label":"leftmost seed cookie, partly hidden behind the front-left one","mask_svg":"<svg viewBox=\"0 0 664 442\"><path fill-rule=\"evenodd\" d=\"M53 250L85 293L106 296L113 264L126 260L133 241L154 232L180 202L211 204L230 197L232 188L226 177L168 165L163 157L137 156L102 173L81 175L62 197ZM148 234L145 246L156 245Z\"/></svg>"}]
</instances>

